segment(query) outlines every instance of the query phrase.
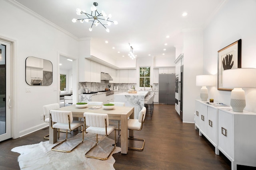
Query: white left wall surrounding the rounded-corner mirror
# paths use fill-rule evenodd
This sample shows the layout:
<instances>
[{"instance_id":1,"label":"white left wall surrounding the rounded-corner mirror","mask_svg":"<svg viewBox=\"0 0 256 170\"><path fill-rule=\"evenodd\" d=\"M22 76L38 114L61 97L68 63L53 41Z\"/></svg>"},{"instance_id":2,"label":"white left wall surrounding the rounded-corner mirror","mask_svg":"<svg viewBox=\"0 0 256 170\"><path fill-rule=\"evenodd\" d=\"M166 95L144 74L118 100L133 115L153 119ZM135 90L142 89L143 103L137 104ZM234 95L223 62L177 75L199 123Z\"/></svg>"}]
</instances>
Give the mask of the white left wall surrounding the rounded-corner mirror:
<instances>
[{"instance_id":1,"label":"white left wall surrounding the rounded-corner mirror","mask_svg":"<svg viewBox=\"0 0 256 170\"><path fill-rule=\"evenodd\" d=\"M57 103L58 90L58 52L69 56L78 56L78 41L72 36L52 27L48 23L38 20L28 12L0 1L0 37L8 37L16 41L16 101L12 107L16 112L17 128L12 129L14 138L20 137L47 126L40 118L43 114L42 106ZM50 86L29 86L25 81L25 60L28 56L46 59L53 64L53 82ZM26 93L26 88L31 88ZM50 96L50 97L49 97Z\"/></svg>"}]
</instances>

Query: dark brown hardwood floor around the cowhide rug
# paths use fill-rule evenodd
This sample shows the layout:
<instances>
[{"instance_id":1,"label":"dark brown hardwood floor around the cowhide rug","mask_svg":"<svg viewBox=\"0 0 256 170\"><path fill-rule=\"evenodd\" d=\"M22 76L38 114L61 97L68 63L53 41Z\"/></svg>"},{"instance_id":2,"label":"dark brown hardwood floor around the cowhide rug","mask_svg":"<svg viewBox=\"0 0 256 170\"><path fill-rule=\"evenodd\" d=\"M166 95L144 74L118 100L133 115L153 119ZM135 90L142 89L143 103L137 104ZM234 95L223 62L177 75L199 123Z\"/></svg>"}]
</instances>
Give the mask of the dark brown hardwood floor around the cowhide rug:
<instances>
[{"instance_id":1,"label":"dark brown hardwood floor around the cowhide rug","mask_svg":"<svg viewBox=\"0 0 256 170\"><path fill-rule=\"evenodd\" d=\"M71 135L76 135L77 131ZM20 169L18 153L10 151L22 145L47 141L43 139L48 128L32 134L0 143L0 170ZM64 133L62 133L64 135ZM128 154L113 154L116 170L230 170L230 161L203 136L198 135L194 123L182 123L173 105L154 105L152 120L146 115L141 131L134 131L135 137L146 140L143 151L129 150ZM113 135L110 138L114 139ZM119 138L117 138L119 139ZM140 143L129 140L129 144ZM117 146L120 146L118 141ZM256 169L238 166L238 170Z\"/></svg>"}]
</instances>

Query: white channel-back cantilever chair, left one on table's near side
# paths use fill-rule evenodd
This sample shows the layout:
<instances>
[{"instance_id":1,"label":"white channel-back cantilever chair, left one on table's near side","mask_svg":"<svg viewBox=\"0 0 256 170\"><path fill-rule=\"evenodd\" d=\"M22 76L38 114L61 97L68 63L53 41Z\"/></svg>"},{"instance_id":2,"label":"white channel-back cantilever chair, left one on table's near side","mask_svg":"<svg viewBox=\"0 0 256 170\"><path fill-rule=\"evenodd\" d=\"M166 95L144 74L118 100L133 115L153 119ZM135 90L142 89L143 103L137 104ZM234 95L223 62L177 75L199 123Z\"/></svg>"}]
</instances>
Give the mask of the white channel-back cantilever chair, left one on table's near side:
<instances>
[{"instance_id":1,"label":"white channel-back cantilever chair, left one on table's near side","mask_svg":"<svg viewBox=\"0 0 256 170\"><path fill-rule=\"evenodd\" d=\"M52 129L55 129L55 128L57 128L57 129L66 129L66 139L64 139L64 141L62 141L58 145L55 145L54 147L52 147L53 151L66 152L66 153L72 152L76 147L78 147L81 143L84 142L84 122L83 121L78 121L78 120L73 121L73 116L72 116L71 111L51 110L50 111L50 118L51 118L51 128ZM67 139L68 139L68 129L70 131L72 131L72 130L74 130L78 127L81 127L81 126L82 126L82 141L78 145L76 145L76 147L74 147L71 150L55 149L56 147L60 146L62 143L67 141ZM59 136L60 136L60 131L59 131Z\"/></svg>"}]
</instances>

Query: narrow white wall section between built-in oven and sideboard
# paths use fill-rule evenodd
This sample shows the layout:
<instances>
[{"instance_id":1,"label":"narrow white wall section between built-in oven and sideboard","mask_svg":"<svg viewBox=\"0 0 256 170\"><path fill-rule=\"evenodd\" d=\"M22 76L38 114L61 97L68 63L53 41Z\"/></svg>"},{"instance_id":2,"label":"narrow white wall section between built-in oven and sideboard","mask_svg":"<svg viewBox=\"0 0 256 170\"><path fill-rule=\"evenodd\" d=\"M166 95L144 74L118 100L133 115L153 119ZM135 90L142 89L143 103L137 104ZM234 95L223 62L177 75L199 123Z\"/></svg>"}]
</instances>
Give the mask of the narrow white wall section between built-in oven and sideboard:
<instances>
[{"instance_id":1,"label":"narrow white wall section between built-in oven and sideboard","mask_svg":"<svg viewBox=\"0 0 256 170\"><path fill-rule=\"evenodd\" d=\"M184 32L184 73L183 73L183 122L194 122L195 100L200 88L196 86L196 75L203 68L203 32Z\"/></svg>"}]
</instances>

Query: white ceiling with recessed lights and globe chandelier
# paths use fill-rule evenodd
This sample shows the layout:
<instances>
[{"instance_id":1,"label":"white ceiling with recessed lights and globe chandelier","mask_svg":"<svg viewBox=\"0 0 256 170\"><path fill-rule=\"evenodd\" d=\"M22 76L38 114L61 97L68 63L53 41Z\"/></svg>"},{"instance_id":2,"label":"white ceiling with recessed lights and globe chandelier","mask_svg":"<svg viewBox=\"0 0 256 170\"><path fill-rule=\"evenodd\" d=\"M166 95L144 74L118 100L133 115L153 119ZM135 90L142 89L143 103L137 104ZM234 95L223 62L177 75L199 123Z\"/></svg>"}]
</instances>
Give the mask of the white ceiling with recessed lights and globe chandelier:
<instances>
[{"instance_id":1,"label":"white ceiling with recessed lights and globe chandelier","mask_svg":"<svg viewBox=\"0 0 256 170\"><path fill-rule=\"evenodd\" d=\"M203 29L225 0L16 1L78 38L90 37L92 46L118 60L129 58L129 43L137 57L174 57L174 46L182 46L182 33ZM90 13L93 2L98 3L99 12L111 13L111 20L118 21L118 25L106 25L109 33L102 25L89 31L92 22L71 21L82 18L76 14L76 8ZM188 15L182 16L183 12L188 12ZM166 38L167 35L170 37Z\"/></svg>"}]
</instances>

